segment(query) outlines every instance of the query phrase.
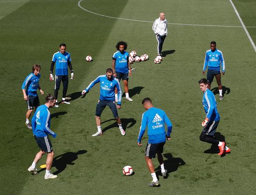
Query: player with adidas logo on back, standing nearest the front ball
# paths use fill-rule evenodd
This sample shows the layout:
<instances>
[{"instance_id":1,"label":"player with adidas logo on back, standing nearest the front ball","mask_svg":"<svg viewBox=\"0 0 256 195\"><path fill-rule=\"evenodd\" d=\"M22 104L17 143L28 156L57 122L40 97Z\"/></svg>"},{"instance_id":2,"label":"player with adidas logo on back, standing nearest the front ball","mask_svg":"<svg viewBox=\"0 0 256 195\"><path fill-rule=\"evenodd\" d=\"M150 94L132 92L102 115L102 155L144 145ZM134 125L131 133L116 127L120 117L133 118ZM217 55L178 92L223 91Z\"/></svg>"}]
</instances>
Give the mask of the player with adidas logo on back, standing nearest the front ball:
<instances>
[{"instance_id":1,"label":"player with adidas logo on back, standing nearest the front ball","mask_svg":"<svg viewBox=\"0 0 256 195\"><path fill-rule=\"evenodd\" d=\"M172 132L172 123L163 110L153 107L152 101L149 98L144 98L142 100L142 105L146 109L146 112L142 114L141 130L137 145L142 146L141 138L148 126L148 144L145 151L145 160L148 170L153 178L153 181L149 186L157 187L160 186L160 183L155 175L155 167L153 165L152 158L155 158L155 154L157 154L158 162L161 165L162 176L166 176L167 170L164 169L162 152L165 139L170 140L171 138L170 134ZM165 132L164 124L167 125L167 133Z\"/></svg>"}]
</instances>

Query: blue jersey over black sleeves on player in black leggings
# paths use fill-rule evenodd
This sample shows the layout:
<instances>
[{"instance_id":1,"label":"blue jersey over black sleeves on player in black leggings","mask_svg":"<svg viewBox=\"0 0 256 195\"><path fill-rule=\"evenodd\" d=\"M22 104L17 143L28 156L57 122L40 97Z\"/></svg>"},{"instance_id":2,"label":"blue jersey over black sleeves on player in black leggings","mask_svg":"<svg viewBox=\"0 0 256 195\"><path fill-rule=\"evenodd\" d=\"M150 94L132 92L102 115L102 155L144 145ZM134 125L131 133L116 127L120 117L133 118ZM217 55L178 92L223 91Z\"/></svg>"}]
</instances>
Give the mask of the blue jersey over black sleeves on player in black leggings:
<instances>
[{"instance_id":1,"label":"blue jersey over black sleeves on player in black leggings","mask_svg":"<svg viewBox=\"0 0 256 195\"><path fill-rule=\"evenodd\" d=\"M62 54L60 51L54 53L53 62L56 63L55 75L68 75L68 62L71 62L70 53Z\"/></svg>"}]
</instances>

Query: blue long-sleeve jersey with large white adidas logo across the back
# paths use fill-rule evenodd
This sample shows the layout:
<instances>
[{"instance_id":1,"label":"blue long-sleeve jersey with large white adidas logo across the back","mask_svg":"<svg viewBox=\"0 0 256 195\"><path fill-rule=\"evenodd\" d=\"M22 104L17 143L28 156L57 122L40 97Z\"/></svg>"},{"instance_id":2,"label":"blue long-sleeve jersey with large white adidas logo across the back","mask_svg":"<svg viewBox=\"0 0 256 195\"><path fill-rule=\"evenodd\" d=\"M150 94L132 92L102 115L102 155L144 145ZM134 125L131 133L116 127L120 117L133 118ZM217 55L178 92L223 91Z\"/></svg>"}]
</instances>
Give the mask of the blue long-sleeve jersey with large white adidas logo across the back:
<instances>
[{"instance_id":1,"label":"blue long-sleeve jersey with large white adidas logo across the back","mask_svg":"<svg viewBox=\"0 0 256 195\"><path fill-rule=\"evenodd\" d=\"M167 133L165 132L164 123L167 125ZM172 123L168 116L163 110L156 107L151 107L142 114L141 129L138 137L139 143L147 126L148 143L150 144L165 142L166 136L169 137L172 132Z\"/></svg>"}]
</instances>

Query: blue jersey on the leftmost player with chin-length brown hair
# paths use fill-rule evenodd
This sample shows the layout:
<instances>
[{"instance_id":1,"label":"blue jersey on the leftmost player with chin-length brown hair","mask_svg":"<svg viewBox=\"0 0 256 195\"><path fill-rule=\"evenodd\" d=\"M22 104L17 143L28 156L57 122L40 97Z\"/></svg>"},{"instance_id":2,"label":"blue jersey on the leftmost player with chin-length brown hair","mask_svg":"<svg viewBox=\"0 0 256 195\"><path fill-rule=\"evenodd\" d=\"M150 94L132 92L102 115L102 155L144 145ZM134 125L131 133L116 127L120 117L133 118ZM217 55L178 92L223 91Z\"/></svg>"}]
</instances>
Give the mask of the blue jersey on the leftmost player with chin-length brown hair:
<instances>
[{"instance_id":1,"label":"blue jersey on the leftmost player with chin-length brown hair","mask_svg":"<svg viewBox=\"0 0 256 195\"><path fill-rule=\"evenodd\" d=\"M30 73L29 75L27 75L26 79L24 80L24 82L22 83L21 88L26 89L26 94L27 95L31 95L31 96L37 96L37 89L39 87L39 80L40 80L41 75L34 75L34 73Z\"/></svg>"}]
</instances>

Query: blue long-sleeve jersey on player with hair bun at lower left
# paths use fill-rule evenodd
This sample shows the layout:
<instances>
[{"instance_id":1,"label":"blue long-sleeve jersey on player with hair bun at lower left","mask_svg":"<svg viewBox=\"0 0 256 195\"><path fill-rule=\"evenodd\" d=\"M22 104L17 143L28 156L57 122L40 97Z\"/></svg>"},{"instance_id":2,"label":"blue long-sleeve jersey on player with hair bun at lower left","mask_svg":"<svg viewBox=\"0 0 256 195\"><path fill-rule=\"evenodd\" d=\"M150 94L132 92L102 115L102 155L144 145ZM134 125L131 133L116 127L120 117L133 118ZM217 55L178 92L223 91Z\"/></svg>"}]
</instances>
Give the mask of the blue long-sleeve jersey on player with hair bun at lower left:
<instances>
[{"instance_id":1,"label":"blue long-sleeve jersey on player with hair bun at lower left","mask_svg":"<svg viewBox=\"0 0 256 195\"><path fill-rule=\"evenodd\" d=\"M48 134L56 138L56 133L51 129L51 114L49 108L44 104L36 109L32 118L33 133L37 137L46 137Z\"/></svg>"}]
</instances>

